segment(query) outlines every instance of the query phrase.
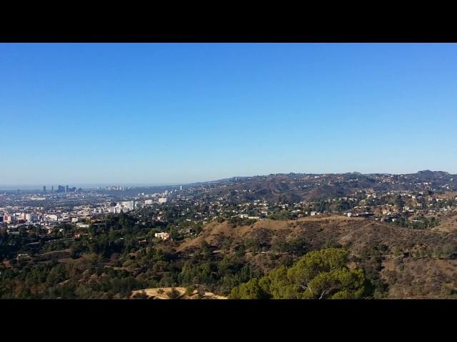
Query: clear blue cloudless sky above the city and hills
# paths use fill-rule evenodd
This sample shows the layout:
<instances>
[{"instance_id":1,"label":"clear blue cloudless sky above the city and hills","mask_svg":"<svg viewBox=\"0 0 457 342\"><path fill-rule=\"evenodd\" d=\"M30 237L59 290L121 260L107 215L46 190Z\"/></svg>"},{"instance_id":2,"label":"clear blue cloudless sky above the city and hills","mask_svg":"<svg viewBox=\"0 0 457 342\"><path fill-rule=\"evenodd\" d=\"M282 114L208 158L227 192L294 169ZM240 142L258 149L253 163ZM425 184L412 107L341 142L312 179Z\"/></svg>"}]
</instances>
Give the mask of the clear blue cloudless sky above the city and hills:
<instances>
[{"instance_id":1,"label":"clear blue cloudless sky above the city and hills","mask_svg":"<svg viewBox=\"0 0 457 342\"><path fill-rule=\"evenodd\" d=\"M0 44L0 185L457 173L457 45Z\"/></svg>"}]
</instances>

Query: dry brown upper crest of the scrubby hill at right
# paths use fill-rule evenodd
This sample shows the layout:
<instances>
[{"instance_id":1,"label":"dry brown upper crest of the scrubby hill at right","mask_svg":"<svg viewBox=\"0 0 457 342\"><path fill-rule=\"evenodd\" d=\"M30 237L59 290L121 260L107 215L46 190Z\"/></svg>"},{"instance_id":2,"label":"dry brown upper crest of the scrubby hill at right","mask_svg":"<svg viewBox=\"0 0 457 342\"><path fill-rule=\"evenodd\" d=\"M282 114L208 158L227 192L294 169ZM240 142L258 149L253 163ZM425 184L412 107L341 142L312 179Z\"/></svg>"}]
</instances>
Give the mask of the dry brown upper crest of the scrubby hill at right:
<instances>
[{"instance_id":1,"label":"dry brown upper crest of the scrubby hill at right","mask_svg":"<svg viewBox=\"0 0 457 342\"><path fill-rule=\"evenodd\" d=\"M348 247L353 254L370 246L385 244L389 250L401 249L402 252L433 248L441 244L457 244L457 236L439 230L419 230L396 227L392 224L376 222L371 219L349 218L341 216L306 217L298 220L261 220L250 226L232 227L229 222L211 222L194 239L186 239L178 250L199 247L206 240L214 247L220 247L224 237L233 239L233 244L246 239L263 239L271 244L274 239L283 237L287 240L306 239L316 245L332 242ZM397 252L399 252L397 250Z\"/></svg>"}]
</instances>

